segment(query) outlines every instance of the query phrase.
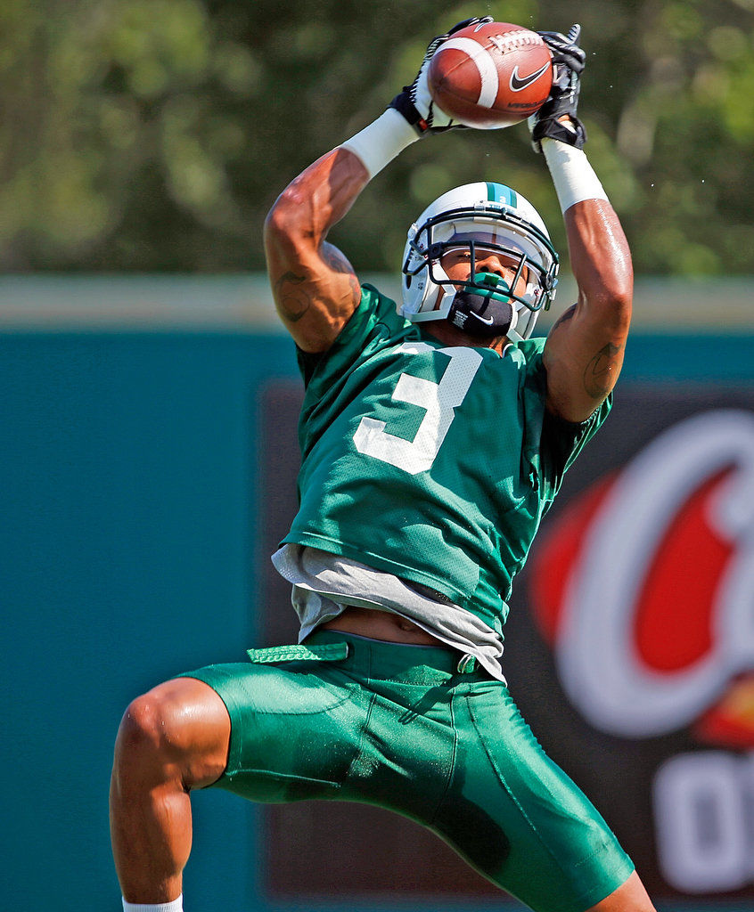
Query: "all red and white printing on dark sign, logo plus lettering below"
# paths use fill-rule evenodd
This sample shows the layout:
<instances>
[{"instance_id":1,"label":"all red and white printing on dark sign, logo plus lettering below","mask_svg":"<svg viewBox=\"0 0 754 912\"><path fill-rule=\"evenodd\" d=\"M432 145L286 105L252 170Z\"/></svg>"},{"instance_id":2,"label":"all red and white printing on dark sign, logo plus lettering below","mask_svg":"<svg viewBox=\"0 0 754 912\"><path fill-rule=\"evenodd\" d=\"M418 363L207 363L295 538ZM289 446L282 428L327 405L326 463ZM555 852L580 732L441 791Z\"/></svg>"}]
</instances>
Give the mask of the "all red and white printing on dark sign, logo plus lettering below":
<instances>
[{"instance_id":1,"label":"all red and white printing on dark sign, logo plus lettering below","mask_svg":"<svg viewBox=\"0 0 754 912\"><path fill-rule=\"evenodd\" d=\"M662 431L566 506L530 580L562 689L592 728L655 757L681 731L699 744L667 751L647 782L665 884L750 889L754 414L708 410Z\"/></svg>"}]
</instances>

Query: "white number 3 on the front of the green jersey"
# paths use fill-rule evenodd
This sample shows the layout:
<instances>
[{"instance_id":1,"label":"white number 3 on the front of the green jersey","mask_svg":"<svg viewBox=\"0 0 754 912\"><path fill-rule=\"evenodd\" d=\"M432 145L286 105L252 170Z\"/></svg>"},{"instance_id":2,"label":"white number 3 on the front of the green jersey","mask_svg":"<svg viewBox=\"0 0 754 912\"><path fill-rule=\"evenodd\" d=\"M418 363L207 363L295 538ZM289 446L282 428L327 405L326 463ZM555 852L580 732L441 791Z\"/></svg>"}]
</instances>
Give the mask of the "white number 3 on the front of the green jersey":
<instances>
[{"instance_id":1,"label":"white number 3 on the front of the green jersey","mask_svg":"<svg viewBox=\"0 0 754 912\"><path fill-rule=\"evenodd\" d=\"M353 442L360 453L416 475L432 468L455 417L454 409L463 402L482 363L482 356L473 348L433 348L424 342L409 342L398 350L407 355L438 352L450 358L439 383L401 374L395 385L393 401L408 402L426 409L424 420L414 440L403 440L388 433L384 421L362 418L353 435Z\"/></svg>"}]
</instances>

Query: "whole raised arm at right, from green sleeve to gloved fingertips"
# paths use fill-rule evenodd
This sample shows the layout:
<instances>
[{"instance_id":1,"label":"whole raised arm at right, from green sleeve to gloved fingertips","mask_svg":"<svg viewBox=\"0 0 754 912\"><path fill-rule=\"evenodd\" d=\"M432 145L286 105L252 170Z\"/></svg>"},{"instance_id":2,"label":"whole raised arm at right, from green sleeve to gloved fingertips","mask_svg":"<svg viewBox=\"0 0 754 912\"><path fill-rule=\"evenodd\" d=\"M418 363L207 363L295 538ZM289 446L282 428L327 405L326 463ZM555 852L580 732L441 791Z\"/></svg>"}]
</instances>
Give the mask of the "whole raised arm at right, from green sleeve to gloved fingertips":
<instances>
[{"instance_id":1,"label":"whole raised arm at right, from green sleeve to gloved fingertips","mask_svg":"<svg viewBox=\"0 0 754 912\"><path fill-rule=\"evenodd\" d=\"M582 421L608 396L623 366L634 272L623 228L583 152L576 116L584 53L579 27L540 33L553 50L552 94L532 122L535 148L550 168L568 235L578 300L550 330L543 363L550 411Z\"/></svg>"}]
</instances>

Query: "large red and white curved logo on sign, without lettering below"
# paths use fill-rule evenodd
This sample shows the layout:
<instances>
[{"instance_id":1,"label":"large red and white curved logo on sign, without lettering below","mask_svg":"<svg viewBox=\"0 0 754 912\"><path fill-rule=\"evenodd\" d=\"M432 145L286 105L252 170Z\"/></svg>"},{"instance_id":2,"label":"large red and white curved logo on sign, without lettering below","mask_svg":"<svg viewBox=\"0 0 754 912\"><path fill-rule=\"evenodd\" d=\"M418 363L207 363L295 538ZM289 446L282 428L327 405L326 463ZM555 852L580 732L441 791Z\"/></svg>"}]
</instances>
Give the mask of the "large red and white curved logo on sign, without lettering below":
<instances>
[{"instance_id":1,"label":"large red and white curved logo on sign, without lettering below","mask_svg":"<svg viewBox=\"0 0 754 912\"><path fill-rule=\"evenodd\" d=\"M754 415L665 430L561 516L533 580L563 689L592 726L666 734L733 688L717 728L754 746Z\"/></svg>"}]
</instances>

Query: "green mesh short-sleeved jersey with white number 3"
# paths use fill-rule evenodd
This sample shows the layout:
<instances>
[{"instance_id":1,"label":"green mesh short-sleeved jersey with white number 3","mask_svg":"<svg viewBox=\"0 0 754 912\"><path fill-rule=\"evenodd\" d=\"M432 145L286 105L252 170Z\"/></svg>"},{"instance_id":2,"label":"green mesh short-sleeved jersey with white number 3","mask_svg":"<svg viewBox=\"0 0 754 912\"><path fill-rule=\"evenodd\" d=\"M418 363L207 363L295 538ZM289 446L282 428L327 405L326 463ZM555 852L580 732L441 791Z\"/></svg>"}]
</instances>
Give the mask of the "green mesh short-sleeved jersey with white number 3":
<instances>
[{"instance_id":1,"label":"green mesh short-sleeved jersey with white number 3","mask_svg":"<svg viewBox=\"0 0 754 912\"><path fill-rule=\"evenodd\" d=\"M544 343L445 347L363 285L333 345L299 352L299 510L284 541L429 586L501 633L541 518L611 407L553 418Z\"/></svg>"}]
</instances>

